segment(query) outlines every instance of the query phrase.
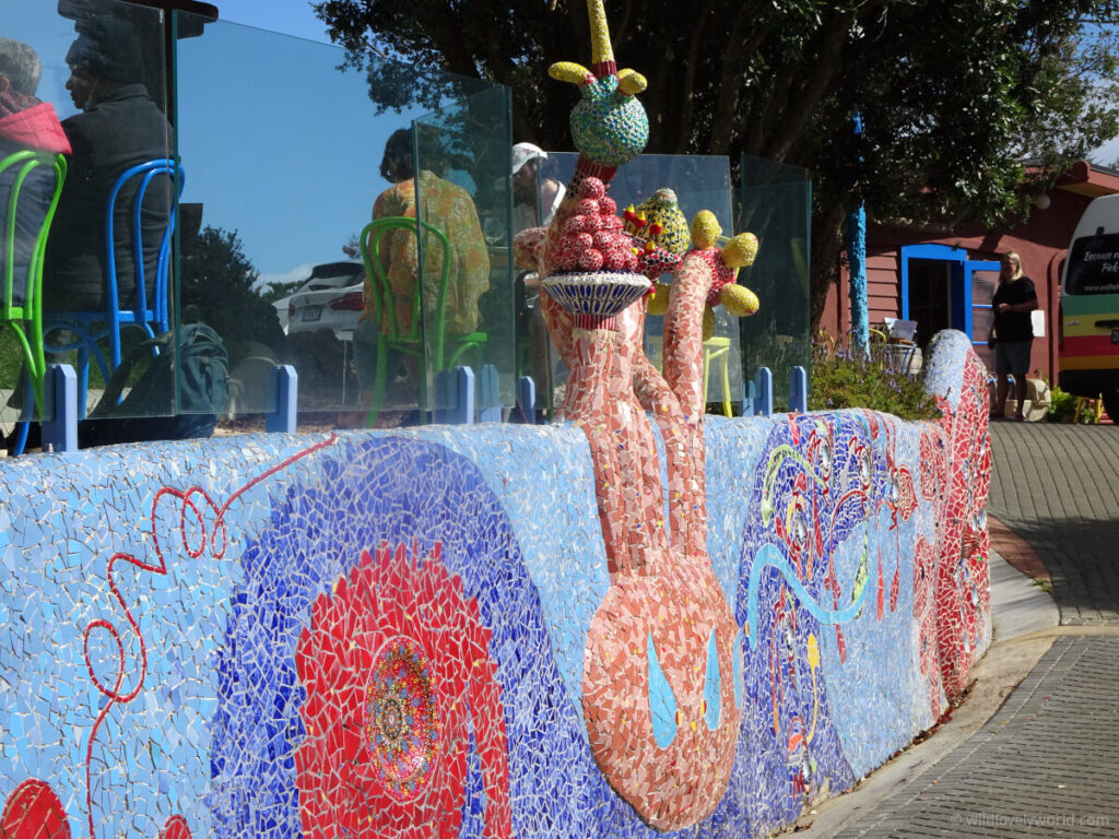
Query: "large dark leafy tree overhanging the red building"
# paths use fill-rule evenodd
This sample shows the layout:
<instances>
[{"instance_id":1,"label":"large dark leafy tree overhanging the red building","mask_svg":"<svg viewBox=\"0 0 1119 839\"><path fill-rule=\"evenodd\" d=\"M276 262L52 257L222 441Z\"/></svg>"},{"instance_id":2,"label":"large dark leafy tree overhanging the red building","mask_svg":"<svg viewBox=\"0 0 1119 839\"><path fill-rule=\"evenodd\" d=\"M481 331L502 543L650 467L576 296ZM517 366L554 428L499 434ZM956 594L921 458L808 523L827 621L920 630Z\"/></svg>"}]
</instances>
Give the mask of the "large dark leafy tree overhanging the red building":
<instances>
[{"instance_id":1,"label":"large dark leafy tree overhanging the red building","mask_svg":"<svg viewBox=\"0 0 1119 839\"><path fill-rule=\"evenodd\" d=\"M387 55L508 85L516 139L570 144L575 94L546 69L589 63L581 2L314 9L350 63L370 68L375 101L421 101L422 85L393 81ZM1100 26L1119 0L608 0L606 12L619 66L649 78L648 152L746 153L812 171L814 323L859 200L877 220L1008 223L1119 133L1116 35Z\"/></svg>"}]
</instances>

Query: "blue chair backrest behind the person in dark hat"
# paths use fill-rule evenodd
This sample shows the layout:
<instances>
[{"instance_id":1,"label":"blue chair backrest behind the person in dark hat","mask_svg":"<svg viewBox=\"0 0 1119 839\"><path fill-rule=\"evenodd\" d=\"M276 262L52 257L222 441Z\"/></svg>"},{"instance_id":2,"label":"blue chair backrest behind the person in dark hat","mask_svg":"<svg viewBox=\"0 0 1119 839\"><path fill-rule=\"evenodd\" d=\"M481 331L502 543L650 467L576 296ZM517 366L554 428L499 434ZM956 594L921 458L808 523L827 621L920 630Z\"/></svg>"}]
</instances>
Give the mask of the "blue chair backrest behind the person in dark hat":
<instances>
[{"instance_id":1,"label":"blue chair backrest behind the person in dark hat","mask_svg":"<svg viewBox=\"0 0 1119 839\"><path fill-rule=\"evenodd\" d=\"M145 276L144 268L144 228L143 207L148 195L148 188L158 176L167 176L175 183L175 201L182 195L182 187L186 183L186 173L182 164L169 158L158 158L147 163L140 163L130 169L125 169L113 183L106 199L105 211L105 283L106 301L110 311L110 320L115 321L119 313L131 312L133 322L157 324L157 332L166 332L169 328L169 304L168 304L168 275L171 263L171 236L175 233L175 208L168 207L167 224L160 232L159 257L156 263L156 276ZM120 292L117 284L116 266L116 232L115 211L116 201L124 190L125 185L135 179L137 188L131 194L131 206L128 208L128 218L131 223L130 249L135 263L135 303L132 307L121 308ZM154 294L151 308L148 308L148 285L154 284Z\"/></svg>"}]
</instances>

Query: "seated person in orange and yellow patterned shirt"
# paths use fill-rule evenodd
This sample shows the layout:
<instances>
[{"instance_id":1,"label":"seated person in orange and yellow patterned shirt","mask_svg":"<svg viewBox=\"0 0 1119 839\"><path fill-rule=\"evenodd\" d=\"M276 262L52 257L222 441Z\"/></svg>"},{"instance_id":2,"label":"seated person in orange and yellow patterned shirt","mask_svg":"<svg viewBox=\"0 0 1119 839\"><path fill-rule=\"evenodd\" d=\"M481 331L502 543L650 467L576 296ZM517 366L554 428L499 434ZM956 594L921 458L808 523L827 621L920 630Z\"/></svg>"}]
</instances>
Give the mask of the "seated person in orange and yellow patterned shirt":
<instances>
[{"instance_id":1,"label":"seated person in orange and yellow patterned shirt","mask_svg":"<svg viewBox=\"0 0 1119 839\"><path fill-rule=\"evenodd\" d=\"M470 194L429 169L415 173L412 159L412 131L399 129L388 138L380 161L380 173L393 186L382 192L373 206L373 218L420 218L442 230L450 242L444 329L448 338L478 328L478 300L489 289L489 253L478 221L478 210ZM417 183L420 206L417 207ZM372 256L372 252L370 252ZM412 307L419 273L416 237L410 230L391 230L380 239L380 261L392 292L393 312L401 333L412 328ZM443 270L443 249L433 237L424 238L423 311L433 312L438 303L439 281ZM377 331L392 333L392 315L386 311L377 322L376 296L365 279L365 311L354 336L354 356L358 387L369 404L376 378ZM402 359L388 359L391 383ZM419 369L405 357L412 393L420 385Z\"/></svg>"}]
</instances>

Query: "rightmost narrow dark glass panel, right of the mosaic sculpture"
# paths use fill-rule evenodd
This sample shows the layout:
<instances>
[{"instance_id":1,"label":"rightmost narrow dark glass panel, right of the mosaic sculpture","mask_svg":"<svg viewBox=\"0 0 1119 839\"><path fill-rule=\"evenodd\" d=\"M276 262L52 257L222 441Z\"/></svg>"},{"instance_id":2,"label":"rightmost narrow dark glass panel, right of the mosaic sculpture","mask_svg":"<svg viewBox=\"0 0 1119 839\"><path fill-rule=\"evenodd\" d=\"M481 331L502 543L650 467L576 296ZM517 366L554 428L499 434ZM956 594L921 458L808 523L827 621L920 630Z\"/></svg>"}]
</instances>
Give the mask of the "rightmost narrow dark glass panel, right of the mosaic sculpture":
<instances>
[{"instance_id":1,"label":"rightmost narrow dark glass panel, right of the mosaic sculpture","mask_svg":"<svg viewBox=\"0 0 1119 839\"><path fill-rule=\"evenodd\" d=\"M761 303L743 318L742 367L773 371L773 409L789 406L789 373L811 373L809 310L809 214L812 182L807 169L742 157L741 229L758 236L749 285ZM809 379L810 381L811 379Z\"/></svg>"}]
</instances>

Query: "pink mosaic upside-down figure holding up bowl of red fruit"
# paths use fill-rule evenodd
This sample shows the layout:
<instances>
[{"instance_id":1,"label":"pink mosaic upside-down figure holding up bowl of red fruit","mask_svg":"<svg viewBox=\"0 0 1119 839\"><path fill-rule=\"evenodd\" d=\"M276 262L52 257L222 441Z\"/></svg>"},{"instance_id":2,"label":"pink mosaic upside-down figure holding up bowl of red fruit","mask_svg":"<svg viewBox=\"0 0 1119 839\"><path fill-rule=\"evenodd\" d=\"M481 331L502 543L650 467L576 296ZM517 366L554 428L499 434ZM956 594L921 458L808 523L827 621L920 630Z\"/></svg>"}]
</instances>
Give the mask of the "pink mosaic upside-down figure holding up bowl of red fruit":
<instances>
[{"instance_id":1,"label":"pink mosaic upside-down figure holding up bowl of red fruit","mask_svg":"<svg viewBox=\"0 0 1119 839\"><path fill-rule=\"evenodd\" d=\"M571 373L561 413L591 446L612 582L587 633L583 715L610 784L649 824L676 830L723 796L741 722L742 638L707 558L702 430L704 307L734 268L702 216L702 246L676 272L661 376L642 353L639 299L651 290L641 273L661 273L671 251L633 229L645 227L636 214L624 232L603 183L645 147L648 120L631 96L645 85L614 75L601 0L587 6L594 73L551 70L582 84L584 98L572 114L580 160L543 258L544 313ZM752 258L746 241L728 249L731 262ZM667 488L647 411L665 441Z\"/></svg>"}]
</instances>

